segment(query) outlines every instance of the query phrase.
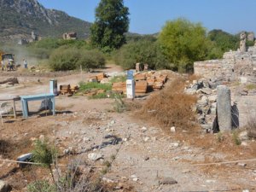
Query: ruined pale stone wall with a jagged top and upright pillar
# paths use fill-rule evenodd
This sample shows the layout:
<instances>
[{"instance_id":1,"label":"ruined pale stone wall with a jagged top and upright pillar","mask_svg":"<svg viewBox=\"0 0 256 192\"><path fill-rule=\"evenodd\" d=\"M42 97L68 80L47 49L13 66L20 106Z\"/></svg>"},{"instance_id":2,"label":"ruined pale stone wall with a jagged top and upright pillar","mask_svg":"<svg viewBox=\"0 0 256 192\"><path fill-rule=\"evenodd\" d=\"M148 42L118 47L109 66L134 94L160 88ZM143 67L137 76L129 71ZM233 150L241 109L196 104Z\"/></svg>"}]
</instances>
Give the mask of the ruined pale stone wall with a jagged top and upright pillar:
<instances>
[{"instance_id":1,"label":"ruined pale stone wall with a jagged top and upright pillar","mask_svg":"<svg viewBox=\"0 0 256 192\"><path fill-rule=\"evenodd\" d=\"M246 49L245 35L241 32L240 49L224 53L223 59L195 62L195 74L227 82L256 83L256 46Z\"/></svg>"}]
</instances>

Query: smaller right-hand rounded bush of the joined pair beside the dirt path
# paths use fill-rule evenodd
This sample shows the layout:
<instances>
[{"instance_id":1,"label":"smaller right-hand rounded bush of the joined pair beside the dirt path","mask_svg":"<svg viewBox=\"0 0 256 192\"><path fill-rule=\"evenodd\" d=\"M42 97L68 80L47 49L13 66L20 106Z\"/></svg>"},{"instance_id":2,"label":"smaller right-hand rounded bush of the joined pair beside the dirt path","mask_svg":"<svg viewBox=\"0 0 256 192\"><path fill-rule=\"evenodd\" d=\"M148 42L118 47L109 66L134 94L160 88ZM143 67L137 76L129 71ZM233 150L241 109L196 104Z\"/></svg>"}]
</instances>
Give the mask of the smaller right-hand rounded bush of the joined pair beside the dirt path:
<instances>
[{"instance_id":1,"label":"smaller right-hand rounded bush of the joined pair beside the dirt path","mask_svg":"<svg viewBox=\"0 0 256 192\"><path fill-rule=\"evenodd\" d=\"M90 68L104 67L105 62L105 57L100 51L96 49L85 50L81 52L81 56L77 62L77 67L81 66L89 70Z\"/></svg>"}]
</instances>

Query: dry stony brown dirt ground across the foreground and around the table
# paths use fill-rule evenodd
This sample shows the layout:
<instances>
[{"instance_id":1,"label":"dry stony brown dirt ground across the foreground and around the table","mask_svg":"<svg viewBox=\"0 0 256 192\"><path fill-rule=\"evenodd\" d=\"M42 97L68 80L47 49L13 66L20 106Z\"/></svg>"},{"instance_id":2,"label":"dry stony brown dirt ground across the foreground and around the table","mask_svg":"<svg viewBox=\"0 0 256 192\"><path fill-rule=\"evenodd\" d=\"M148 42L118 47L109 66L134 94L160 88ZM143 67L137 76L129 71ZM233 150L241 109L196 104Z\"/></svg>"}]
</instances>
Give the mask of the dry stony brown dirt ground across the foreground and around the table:
<instances>
[{"instance_id":1,"label":"dry stony brown dirt ground across the foreground and around the table","mask_svg":"<svg viewBox=\"0 0 256 192\"><path fill-rule=\"evenodd\" d=\"M103 71L122 72L112 65ZM58 84L78 84L90 75L73 73L49 77L4 73L1 79L16 76L20 84L1 88L0 98L48 92L50 78L57 79ZM79 160L84 165L86 161L101 170L103 162L113 160L114 156L112 167L104 177L108 183L125 183L135 191L256 191L255 160L244 162L246 165L219 163L256 158L254 140L238 146L230 133L218 142L218 135L201 130L187 131L184 127L172 133L162 131L160 125L139 118L134 111L113 112L113 99L57 96L55 116L37 113L39 106L40 102L29 103L32 114L28 119L22 119L21 115L17 119L4 119L0 127L0 179L10 183L13 191L26 191L27 183L36 178L49 178L49 172L43 168L20 170L15 168L15 163L1 161L16 160L20 154L31 152L32 141L41 135L54 140L61 154L67 149L74 153L64 156L63 162ZM21 111L20 102L16 107ZM113 137L116 142L109 142ZM90 153L101 154L103 160L89 160ZM161 184L165 177L172 177L177 183Z\"/></svg>"}]
</instances>

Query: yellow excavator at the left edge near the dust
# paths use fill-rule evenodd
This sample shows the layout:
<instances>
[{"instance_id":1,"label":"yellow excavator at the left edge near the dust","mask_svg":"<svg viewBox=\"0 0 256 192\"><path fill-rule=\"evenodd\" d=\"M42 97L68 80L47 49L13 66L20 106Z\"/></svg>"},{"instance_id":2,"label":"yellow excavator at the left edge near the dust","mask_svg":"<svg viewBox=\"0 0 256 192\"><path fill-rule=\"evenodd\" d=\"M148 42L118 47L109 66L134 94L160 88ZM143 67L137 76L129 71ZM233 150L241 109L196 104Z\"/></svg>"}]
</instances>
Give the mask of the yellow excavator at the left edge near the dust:
<instances>
[{"instance_id":1,"label":"yellow excavator at the left edge near the dust","mask_svg":"<svg viewBox=\"0 0 256 192\"><path fill-rule=\"evenodd\" d=\"M14 70L15 68L15 55L10 53L4 53L0 50L0 65L2 71Z\"/></svg>"}]
</instances>

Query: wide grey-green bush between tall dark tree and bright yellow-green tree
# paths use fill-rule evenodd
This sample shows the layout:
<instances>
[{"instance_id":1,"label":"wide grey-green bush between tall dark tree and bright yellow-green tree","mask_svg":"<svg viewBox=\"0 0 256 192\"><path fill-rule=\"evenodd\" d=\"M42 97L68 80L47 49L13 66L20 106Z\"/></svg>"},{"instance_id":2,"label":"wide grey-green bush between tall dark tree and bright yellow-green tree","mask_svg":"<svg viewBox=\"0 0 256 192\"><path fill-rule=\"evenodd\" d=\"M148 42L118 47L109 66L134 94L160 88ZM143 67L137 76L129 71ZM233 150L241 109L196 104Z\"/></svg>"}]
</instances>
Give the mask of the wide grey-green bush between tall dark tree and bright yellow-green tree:
<instances>
[{"instance_id":1,"label":"wide grey-green bush between tall dark tree and bright yellow-green tree","mask_svg":"<svg viewBox=\"0 0 256 192\"><path fill-rule=\"evenodd\" d=\"M148 40L125 44L116 52L114 60L124 69L134 68L137 62L148 64L151 69L171 67L162 54L160 45Z\"/></svg>"}]
</instances>

